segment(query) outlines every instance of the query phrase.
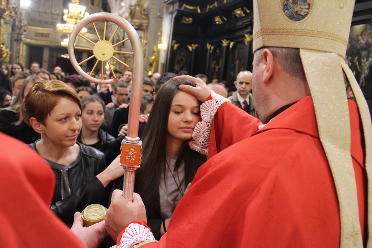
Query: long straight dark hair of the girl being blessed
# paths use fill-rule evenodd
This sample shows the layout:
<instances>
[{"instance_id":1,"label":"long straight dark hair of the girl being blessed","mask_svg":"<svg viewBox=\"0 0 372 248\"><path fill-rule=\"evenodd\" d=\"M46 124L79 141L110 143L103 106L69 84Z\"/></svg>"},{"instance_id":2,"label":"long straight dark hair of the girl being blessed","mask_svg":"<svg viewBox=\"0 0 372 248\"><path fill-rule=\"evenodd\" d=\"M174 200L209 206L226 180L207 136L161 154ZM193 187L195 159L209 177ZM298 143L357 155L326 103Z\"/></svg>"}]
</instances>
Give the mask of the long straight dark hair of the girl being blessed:
<instances>
[{"instance_id":1,"label":"long straight dark hair of the girl being blessed","mask_svg":"<svg viewBox=\"0 0 372 248\"><path fill-rule=\"evenodd\" d=\"M168 117L173 97L180 90L181 84L195 87L191 81L179 79L167 81L156 95L154 105L143 133L143 155L141 169L136 173L134 191L139 193L143 202L153 202L159 195L162 173L166 168L166 144ZM206 161L206 157L193 151L185 141L177 157L175 170L185 162L185 186L192 181L197 169Z\"/></svg>"}]
</instances>

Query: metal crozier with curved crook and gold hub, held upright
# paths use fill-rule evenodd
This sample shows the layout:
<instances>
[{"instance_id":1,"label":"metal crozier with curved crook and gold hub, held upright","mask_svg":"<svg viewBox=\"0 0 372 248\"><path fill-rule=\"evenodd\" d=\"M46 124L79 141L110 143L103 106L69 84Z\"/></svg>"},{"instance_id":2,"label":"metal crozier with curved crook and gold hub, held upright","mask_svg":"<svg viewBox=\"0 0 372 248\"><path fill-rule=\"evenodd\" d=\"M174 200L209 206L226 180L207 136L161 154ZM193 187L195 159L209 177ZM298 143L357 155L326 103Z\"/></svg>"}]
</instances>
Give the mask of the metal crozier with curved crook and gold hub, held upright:
<instances>
[{"instance_id":1,"label":"metal crozier with curved crook and gold hub, held upright","mask_svg":"<svg viewBox=\"0 0 372 248\"><path fill-rule=\"evenodd\" d=\"M81 31L81 29L94 21L111 21L118 26L120 26L124 32L128 35L130 44L132 46L133 52L133 81L132 81L132 91L130 96L130 104L129 104L129 117L128 117L128 133L125 139L122 142L121 147L121 159L120 164L124 167L125 174L124 174L124 197L126 199L133 200L133 191L134 191L134 176L135 171L140 167L141 159L142 159L142 142L139 140L138 137L138 125L139 125L139 113L141 107L141 95L142 95L142 82L143 82L143 52L141 41L137 34L137 31L133 28L133 26L126 21L124 18L112 14L112 13L95 13L91 14L85 18L83 18L80 22L78 22L75 28L72 30L70 34L70 40L68 42L68 54L70 57L70 61L76 71L82 75L84 78L95 82L95 83L111 83L113 80L99 80L89 76L85 71L83 71L80 65L77 63L75 56L73 56L74 52L74 42ZM105 26L106 27L106 26ZM105 29L106 30L106 29ZM105 37L103 37L105 39ZM100 39L99 39L100 40ZM111 41L111 39L110 39ZM111 55L107 58L108 54L114 54L114 45L110 43L110 41L103 43L101 40L97 43L91 42L95 44L93 48L93 55L96 57L97 60L101 61L102 64L104 61L108 61L111 58ZM97 44L101 44L99 47ZM102 48L102 44L104 48ZM96 48L97 45L97 49ZM116 44L118 45L118 44ZM115 46L116 46L115 45ZM100 49L99 49L99 48ZM106 50L107 51L106 51Z\"/></svg>"}]
</instances>

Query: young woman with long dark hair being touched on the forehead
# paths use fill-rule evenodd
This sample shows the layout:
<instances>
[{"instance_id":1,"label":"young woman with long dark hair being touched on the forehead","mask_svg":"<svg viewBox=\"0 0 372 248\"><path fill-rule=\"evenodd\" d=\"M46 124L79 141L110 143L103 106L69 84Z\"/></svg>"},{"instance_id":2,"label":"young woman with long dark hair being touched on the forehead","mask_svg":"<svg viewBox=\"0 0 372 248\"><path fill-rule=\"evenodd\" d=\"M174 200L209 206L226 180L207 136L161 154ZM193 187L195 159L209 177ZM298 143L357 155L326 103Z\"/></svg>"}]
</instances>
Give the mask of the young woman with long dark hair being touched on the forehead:
<instances>
[{"instance_id":1,"label":"young woman with long dark hair being touched on the forehead","mask_svg":"<svg viewBox=\"0 0 372 248\"><path fill-rule=\"evenodd\" d=\"M134 191L142 197L147 224L156 239L166 232L176 202L206 161L187 145L198 122L200 103L180 91L181 84L195 86L188 80L169 80L158 91L143 133L141 168L135 176ZM122 189L123 183L116 188Z\"/></svg>"}]
</instances>

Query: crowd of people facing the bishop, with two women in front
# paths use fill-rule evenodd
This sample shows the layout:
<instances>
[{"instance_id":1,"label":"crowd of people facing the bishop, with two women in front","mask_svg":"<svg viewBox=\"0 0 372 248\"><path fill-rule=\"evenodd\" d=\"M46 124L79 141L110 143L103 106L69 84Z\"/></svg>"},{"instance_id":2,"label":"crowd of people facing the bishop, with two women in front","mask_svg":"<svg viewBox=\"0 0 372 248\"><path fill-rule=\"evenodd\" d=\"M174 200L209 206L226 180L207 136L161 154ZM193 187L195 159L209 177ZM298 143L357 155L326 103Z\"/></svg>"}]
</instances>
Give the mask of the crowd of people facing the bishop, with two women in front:
<instances>
[{"instance_id":1,"label":"crowd of people facing the bishop, with two women in front","mask_svg":"<svg viewBox=\"0 0 372 248\"><path fill-rule=\"evenodd\" d=\"M2 63L4 75L7 67ZM75 212L93 203L109 207L112 191L123 188L119 154L128 123L132 72L116 68L107 74L113 82L105 85L65 75L60 66L50 73L37 62L29 70L14 63L12 71L14 75L4 76L2 83L9 90L3 89L7 95L0 109L0 131L28 144L49 164L56 179L50 209L72 227ZM177 203L206 161L187 145L201 103L179 86L195 84L174 81L176 76L156 72L143 77L138 135L146 152L135 191L144 197L147 222L157 239L165 234ZM196 77L208 82L204 74ZM225 85L210 85L227 97ZM114 244L107 238L101 247Z\"/></svg>"}]
</instances>

